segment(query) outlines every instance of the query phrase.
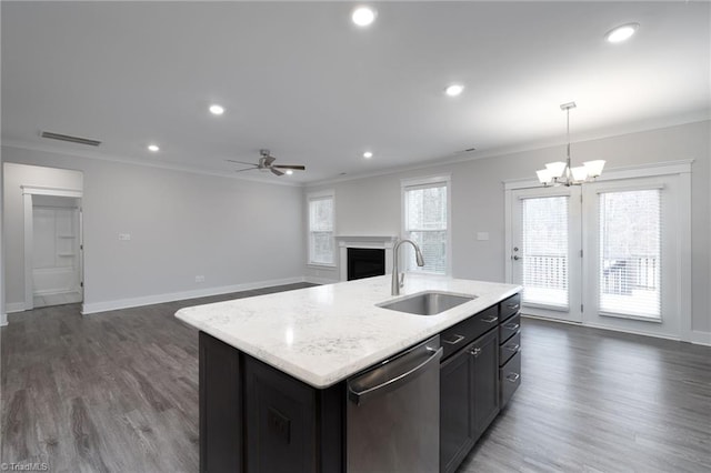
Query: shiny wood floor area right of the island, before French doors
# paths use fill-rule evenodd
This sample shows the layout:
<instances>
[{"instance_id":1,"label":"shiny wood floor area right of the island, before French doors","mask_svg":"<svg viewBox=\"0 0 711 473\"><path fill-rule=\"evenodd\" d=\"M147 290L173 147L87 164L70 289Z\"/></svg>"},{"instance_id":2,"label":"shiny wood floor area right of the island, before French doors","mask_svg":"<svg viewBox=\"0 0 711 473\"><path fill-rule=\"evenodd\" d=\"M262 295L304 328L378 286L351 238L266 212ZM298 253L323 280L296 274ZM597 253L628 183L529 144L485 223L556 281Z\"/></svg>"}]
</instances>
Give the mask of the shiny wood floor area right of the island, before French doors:
<instances>
[{"instance_id":1,"label":"shiny wood floor area right of the island, before French doors","mask_svg":"<svg viewBox=\"0 0 711 473\"><path fill-rule=\"evenodd\" d=\"M711 348L533 319L522 383L459 472L711 472Z\"/></svg>"}]
</instances>

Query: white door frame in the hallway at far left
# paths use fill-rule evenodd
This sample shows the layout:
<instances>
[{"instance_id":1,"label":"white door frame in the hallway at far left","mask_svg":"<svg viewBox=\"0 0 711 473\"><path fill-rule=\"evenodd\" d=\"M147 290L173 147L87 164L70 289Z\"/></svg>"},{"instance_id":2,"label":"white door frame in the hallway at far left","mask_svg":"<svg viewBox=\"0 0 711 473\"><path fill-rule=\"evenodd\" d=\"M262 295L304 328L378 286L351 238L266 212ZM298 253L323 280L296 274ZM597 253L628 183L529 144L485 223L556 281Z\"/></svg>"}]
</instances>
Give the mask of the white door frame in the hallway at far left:
<instances>
[{"instance_id":1,"label":"white door frame in the hallway at far left","mask_svg":"<svg viewBox=\"0 0 711 473\"><path fill-rule=\"evenodd\" d=\"M76 189L62 189L62 188L46 188L38 185L21 185L22 189L22 203L24 210L24 310L29 311L34 309L34 296L33 296L33 286L32 283L32 266L34 263L33 256L33 246L34 246L34 224L33 224L33 215L32 215L32 195L51 195L51 197L66 197L79 199L79 279L83 281L84 279L84 268L83 268L83 222L82 222L82 210L81 210L81 199L83 197L83 191L78 191ZM83 291L82 291L83 299Z\"/></svg>"}]
</instances>

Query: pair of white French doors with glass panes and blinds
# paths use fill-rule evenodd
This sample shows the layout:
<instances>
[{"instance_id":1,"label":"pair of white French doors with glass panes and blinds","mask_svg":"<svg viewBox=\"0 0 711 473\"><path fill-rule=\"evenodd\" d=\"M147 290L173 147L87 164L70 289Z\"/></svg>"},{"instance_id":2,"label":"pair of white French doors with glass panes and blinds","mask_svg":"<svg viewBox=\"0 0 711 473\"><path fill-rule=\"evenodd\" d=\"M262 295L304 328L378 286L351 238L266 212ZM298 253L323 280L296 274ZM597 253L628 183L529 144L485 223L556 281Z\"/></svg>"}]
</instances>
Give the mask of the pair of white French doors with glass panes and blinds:
<instances>
[{"instance_id":1,"label":"pair of white French doors with glass panes and blinds","mask_svg":"<svg viewBox=\"0 0 711 473\"><path fill-rule=\"evenodd\" d=\"M508 273L523 312L682 336L684 185L654 175L511 190Z\"/></svg>"}]
</instances>

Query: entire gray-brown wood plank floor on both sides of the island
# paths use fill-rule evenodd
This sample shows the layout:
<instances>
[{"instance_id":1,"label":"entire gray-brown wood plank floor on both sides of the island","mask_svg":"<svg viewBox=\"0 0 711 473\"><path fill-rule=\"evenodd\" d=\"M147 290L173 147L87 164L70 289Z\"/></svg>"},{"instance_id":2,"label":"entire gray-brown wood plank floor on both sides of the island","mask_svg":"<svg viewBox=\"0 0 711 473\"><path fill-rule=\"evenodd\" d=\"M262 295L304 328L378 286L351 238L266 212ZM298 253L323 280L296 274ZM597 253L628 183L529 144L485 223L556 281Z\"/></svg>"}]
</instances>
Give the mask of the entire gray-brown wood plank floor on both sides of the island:
<instances>
[{"instance_id":1,"label":"entire gray-brown wood plank floor on both sides of the island","mask_svg":"<svg viewBox=\"0 0 711 473\"><path fill-rule=\"evenodd\" d=\"M11 314L0 461L197 472L198 333L173 313L297 286ZM460 472L711 471L710 348L528 319L522 335L523 383Z\"/></svg>"}]
</instances>

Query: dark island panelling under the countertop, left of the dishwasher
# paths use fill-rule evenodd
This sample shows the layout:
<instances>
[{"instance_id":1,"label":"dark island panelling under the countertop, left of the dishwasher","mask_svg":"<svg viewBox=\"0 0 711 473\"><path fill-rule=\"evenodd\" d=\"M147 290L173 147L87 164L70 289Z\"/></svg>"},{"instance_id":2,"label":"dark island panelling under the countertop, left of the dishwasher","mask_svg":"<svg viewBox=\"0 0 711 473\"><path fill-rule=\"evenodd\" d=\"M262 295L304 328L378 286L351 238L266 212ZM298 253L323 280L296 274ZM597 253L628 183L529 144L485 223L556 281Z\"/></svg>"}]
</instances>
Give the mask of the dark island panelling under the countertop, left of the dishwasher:
<instances>
[{"instance_id":1,"label":"dark island panelling under the countertop, left of the dishwasher","mask_svg":"<svg viewBox=\"0 0 711 473\"><path fill-rule=\"evenodd\" d=\"M200 471L342 471L344 399L200 332Z\"/></svg>"}]
</instances>

